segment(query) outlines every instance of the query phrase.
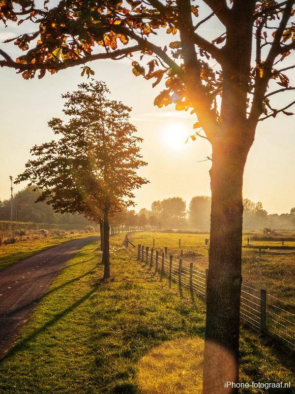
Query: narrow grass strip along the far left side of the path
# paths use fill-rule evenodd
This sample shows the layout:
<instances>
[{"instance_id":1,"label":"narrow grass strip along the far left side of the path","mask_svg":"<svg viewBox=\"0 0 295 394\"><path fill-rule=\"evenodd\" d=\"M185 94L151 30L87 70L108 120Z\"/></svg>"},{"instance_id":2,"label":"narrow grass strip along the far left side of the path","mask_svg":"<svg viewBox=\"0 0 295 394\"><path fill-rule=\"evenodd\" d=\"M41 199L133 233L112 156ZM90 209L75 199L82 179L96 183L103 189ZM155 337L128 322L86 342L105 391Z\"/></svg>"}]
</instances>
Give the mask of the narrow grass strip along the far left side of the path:
<instances>
[{"instance_id":1,"label":"narrow grass strip along the far left side of the path","mask_svg":"<svg viewBox=\"0 0 295 394\"><path fill-rule=\"evenodd\" d=\"M86 236L89 234L84 234L82 236ZM67 235L65 238L64 236L57 236L57 237L47 237L47 238L40 238L35 240L23 241L12 243L8 245L1 245L0 246L0 270L3 268L8 267L8 265L18 263L21 260L27 259L28 257L34 255L35 253L42 252L45 249L48 249L52 246L61 244L63 242L67 242L70 239L80 238L77 235Z\"/></svg>"}]
</instances>

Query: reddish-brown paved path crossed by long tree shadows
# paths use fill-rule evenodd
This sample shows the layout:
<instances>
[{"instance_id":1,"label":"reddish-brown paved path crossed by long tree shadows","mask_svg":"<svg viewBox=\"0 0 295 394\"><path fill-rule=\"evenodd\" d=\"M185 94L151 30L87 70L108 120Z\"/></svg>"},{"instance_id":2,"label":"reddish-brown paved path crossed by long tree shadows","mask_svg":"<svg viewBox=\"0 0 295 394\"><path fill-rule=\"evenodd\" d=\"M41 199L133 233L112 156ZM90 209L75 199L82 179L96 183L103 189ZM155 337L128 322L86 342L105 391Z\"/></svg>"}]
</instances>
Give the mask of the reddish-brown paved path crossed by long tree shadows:
<instances>
[{"instance_id":1,"label":"reddish-brown paved path crossed by long tree shadows","mask_svg":"<svg viewBox=\"0 0 295 394\"><path fill-rule=\"evenodd\" d=\"M73 239L0 271L0 359L60 269L98 236Z\"/></svg>"}]
</instances>

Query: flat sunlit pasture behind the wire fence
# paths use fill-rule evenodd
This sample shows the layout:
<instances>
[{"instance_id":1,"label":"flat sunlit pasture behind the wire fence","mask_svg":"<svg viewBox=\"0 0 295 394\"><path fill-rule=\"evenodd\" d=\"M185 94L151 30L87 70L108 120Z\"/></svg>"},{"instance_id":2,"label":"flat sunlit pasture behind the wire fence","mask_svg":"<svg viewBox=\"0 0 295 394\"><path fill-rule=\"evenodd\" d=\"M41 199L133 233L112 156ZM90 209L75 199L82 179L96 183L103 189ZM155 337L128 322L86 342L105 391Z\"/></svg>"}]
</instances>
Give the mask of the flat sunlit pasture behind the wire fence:
<instances>
[{"instance_id":1,"label":"flat sunlit pasture behind the wire fence","mask_svg":"<svg viewBox=\"0 0 295 394\"><path fill-rule=\"evenodd\" d=\"M155 239L155 248L159 251L167 246L168 254L179 258L183 250L184 262L193 262L197 269L205 270L208 267L208 249L204 238L208 234L184 234L164 232L139 232L132 235L134 244L143 244L152 247ZM179 248L179 238L181 247ZM245 239L244 239L245 238ZM258 241L257 241L258 242ZM247 236L243 236L243 243L247 243ZM267 241L263 241L267 244ZM272 242L269 242L272 243ZM273 296L288 302L295 302L295 254L277 254L243 248L242 250L242 276L243 283L255 289L266 289Z\"/></svg>"}]
</instances>

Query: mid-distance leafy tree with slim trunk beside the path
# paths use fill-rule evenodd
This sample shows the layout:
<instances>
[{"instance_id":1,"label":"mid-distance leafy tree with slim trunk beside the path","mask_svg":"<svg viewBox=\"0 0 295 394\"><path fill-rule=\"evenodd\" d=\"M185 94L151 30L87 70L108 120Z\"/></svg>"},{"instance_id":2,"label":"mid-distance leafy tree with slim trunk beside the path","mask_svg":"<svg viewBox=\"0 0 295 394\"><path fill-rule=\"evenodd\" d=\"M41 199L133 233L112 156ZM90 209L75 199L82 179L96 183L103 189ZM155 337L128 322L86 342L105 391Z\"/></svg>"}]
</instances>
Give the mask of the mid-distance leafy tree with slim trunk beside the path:
<instances>
[{"instance_id":1,"label":"mid-distance leafy tree with slim trunk beside the path","mask_svg":"<svg viewBox=\"0 0 295 394\"><path fill-rule=\"evenodd\" d=\"M82 213L103 220L104 279L110 277L109 216L134 205L133 190L147 183L136 170L146 165L138 144L142 139L129 123L131 108L109 100L106 85L91 81L66 93L65 123L54 118L49 126L60 136L31 149L33 160L16 182L30 180L56 212Z\"/></svg>"}]
</instances>

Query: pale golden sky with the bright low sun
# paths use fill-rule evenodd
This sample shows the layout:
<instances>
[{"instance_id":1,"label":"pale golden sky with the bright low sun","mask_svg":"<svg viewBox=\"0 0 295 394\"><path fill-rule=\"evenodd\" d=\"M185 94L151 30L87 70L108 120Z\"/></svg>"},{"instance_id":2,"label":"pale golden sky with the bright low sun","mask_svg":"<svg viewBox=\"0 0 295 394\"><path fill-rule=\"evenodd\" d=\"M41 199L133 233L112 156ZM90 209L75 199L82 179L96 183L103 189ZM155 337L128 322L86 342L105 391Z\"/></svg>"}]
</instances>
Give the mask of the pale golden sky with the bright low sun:
<instances>
[{"instance_id":1,"label":"pale golden sky with the bright low sun","mask_svg":"<svg viewBox=\"0 0 295 394\"><path fill-rule=\"evenodd\" d=\"M214 25L206 29L203 33L212 37L218 33ZM0 41L14 33L13 30L0 26ZM13 56L15 47L10 48ZM131 122L144 138L142 155L148 166L139 173L150 183L136 191L136 211L149 208L152 201L163 198L179 196L188 206L192 197L210 195L211 163L204 161L211 153L210 144L202 138L185 144L186 137L193 133L196 119L188 112L175 110L174 106L155 107L153 99L161 86L152 89L152 82L135 77L128 60L96 61L90 66L94 77L107 83L113 99L133 108ZM47 122L52 117L62 117L61 94L75 90L86 79L81 77L79 66L53 76L46 74L41 80L26 81L13 69L1 68L0 73L0 198L3 199L10 195L9 175L16 177L24 170L30 148L54 138ZM245 167L243 197L262 201L268 213L289 212L295 206L294 146L295 117L278 115L260 122ZM14 185L14 191L25 186L26 183Z\"/></svg>"}]
</instances>

